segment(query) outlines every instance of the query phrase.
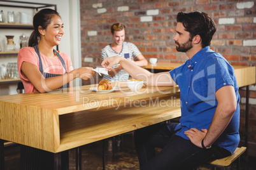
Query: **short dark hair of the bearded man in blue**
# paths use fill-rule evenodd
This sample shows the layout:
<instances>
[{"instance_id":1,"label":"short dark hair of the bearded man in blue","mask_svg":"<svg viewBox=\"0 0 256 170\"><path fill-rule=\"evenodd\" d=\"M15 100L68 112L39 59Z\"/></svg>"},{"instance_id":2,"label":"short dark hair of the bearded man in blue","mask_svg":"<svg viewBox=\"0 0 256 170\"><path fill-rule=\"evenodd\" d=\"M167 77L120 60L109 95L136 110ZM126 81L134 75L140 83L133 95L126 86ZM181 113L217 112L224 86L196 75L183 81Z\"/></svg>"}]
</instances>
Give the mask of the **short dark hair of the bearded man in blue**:
<instances>
[{"instance_id":1,"label":"short dark hair of the bearded man in blue","mask_svg":"<svg viewBox=\"0 0 256 170\"><path fill-rule=\"evenodd\" d=\"M199 35L202 39L202 47L210 46L216 26L213 19L200 11L190 13L180 12L177 15L177 22L181 22L185 30L190 33L190 38Z\"/></svg>"}]
</instances>

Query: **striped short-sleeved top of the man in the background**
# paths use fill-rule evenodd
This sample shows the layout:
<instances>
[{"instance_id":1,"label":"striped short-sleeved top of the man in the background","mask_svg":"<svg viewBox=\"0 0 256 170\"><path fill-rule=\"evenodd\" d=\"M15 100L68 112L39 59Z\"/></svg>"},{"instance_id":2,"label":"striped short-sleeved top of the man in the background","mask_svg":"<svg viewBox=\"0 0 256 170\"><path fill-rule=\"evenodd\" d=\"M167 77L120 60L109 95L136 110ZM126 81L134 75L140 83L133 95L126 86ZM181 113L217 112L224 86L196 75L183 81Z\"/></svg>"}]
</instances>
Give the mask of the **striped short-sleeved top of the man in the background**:
<instances>
[{"instance_id":1,"label":"striped short-sleeved top of the man in the background","mask_svg":"<svg viewBox=\"0 0 256 170\"><path fill-rule=\"evenodd\" d=\"M124 58L127 58L127 60L132 60L132 57L135 59L136 56L141 55L141 52L139 49L132 44L131 42L123 42L123 48L120 53L117 53L113 48L111 48L110 44L103 48L101 51L101 60L103 61L104 58L110 57L110 56L122 56ZM117 68L120 64L114 65L113 69ZM124 69L120 70L118 74L116 74L114 77L111 77L110 75L103 75L103 79L108 79L110 81L126 81L129 79L129 73L126 72Z\"/></svg>"}]
</instances>

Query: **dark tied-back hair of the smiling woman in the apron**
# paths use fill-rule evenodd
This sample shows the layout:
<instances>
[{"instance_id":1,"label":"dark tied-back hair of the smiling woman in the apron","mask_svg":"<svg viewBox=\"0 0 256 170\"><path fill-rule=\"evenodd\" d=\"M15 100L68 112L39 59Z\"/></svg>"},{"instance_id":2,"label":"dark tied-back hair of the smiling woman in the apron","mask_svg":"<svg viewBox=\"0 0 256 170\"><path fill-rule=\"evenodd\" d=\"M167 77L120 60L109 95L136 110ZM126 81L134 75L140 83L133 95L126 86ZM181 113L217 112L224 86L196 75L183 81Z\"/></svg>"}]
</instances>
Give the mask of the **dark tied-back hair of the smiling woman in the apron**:
<instances>
[{"instance_id":1,"label":"dark tied-back hair of the smiling woman in the apron","mask_svg":"<svg viewBox=\"0 0 256 170\"><path fill-rule=\"evenodd\" d=\"M34 31L31 33L31 36L29 37L30 47L32 47L33 44L38 44L38 39L40 37L38 27L41 26L43 29L46 29L46 27L50 24L53 15L59 15L59 13L49 8L40 10L38 11L38 13L36 13L36 15L34 15L34 18L33 18Z\"/></svg>"}]
</instances>

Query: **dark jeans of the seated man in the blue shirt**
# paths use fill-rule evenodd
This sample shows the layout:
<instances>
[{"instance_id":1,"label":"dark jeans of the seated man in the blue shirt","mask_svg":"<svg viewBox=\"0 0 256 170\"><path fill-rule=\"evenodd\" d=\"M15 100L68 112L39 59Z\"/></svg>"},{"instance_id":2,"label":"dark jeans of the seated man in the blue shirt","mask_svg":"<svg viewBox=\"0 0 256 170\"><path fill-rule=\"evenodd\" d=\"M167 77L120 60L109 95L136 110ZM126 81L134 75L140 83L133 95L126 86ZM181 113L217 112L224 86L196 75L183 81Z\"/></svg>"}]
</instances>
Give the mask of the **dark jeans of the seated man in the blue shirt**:
<instances>
[{"instance_id":1,"label":"dark jeans of the seated man in the blue shirt","mask_svg":"<svg viewBox=\"0 0 256 170\"><path fill-rule=\"evenodd\" d=\"M210 149L199 148L190 140L177 136L174 131L177 124L161 123L135 131L134 143L141 170L192 169L231 155L224 148L214 145ZM159 154L155 154L155 147L162 148Z\"/></svg>"}]
</instances>

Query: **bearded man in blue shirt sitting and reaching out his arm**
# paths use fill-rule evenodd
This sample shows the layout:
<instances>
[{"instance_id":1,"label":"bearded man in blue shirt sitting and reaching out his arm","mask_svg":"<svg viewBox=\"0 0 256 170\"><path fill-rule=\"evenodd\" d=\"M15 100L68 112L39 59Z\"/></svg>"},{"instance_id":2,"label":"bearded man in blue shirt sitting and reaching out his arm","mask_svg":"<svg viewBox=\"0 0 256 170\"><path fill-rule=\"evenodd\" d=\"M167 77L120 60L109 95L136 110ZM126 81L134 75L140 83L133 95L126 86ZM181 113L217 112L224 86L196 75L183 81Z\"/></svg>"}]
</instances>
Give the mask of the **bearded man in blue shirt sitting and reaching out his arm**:
<instances>
[{"instance_id":1,"label":"bearded man in blue shirt sitting and reaching out his arm","mask_svg":"<svg viewBox=\"0 0 256 170\"><path fill-rule=\"evenodd\" d=\"M187 62L170 72L152 74L120 56L106 58L111 69L120 63L136 79L148 86L180 88L180 123L157 124L135 132L141 169L192 169L209 160L234 153L239 144L238 84L233 67L210 49L215 23L206 13L178 13L177 51ZM155 147L162 148L155 154Z\"/></svg>"}]
</instances>

